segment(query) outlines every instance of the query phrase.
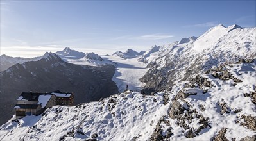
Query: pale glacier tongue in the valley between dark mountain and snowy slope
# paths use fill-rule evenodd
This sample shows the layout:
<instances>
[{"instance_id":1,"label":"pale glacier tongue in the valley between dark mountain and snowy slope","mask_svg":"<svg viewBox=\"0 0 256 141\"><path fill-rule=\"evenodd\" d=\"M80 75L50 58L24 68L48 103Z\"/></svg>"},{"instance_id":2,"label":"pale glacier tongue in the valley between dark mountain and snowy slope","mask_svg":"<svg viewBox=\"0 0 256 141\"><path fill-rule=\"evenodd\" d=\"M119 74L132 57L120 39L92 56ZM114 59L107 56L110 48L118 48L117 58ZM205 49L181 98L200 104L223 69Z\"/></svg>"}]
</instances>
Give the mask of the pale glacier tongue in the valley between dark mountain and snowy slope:
<instances>
[{"instance_id":1,"label":"pale glacier tongue in the valley between dark mountain and snowy slope","mask_svg":"<svg viewBox=\"0 0 256 141\"><path fill-rule=\"evenodd\" d=\"M119 56L101 56L105 60L110 60L116 64L115 74L112 78L118 87L119 92L124 92L126 85L129 90L139 91L143 83L139 81L149 68L146 64L138 62L138 58L124 59Z\"/></svg>"}]
</instances>

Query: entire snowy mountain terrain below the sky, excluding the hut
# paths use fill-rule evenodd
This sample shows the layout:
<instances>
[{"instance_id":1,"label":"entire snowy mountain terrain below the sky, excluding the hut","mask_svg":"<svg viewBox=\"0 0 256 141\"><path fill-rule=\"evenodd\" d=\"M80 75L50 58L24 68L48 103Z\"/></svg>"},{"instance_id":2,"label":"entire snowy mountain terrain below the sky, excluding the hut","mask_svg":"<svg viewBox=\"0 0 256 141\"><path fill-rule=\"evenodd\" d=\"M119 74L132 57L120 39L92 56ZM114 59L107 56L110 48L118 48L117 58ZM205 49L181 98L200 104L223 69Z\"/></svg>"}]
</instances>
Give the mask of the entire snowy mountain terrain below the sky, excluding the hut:
<instances>
[{"instance_id":1,"label":"entire snowy mountain terrain below the sky, excluding the hut","mask_svg":"<svg viewBox=\"0 0 256 141\"><path fill-rule=\"evenodd\" d=\"M74 92L78 105L1 122L0 139L256 140L255 38L219 24L139 53L66 47L17 62L0 72L4 122L22 91Z\"/></svg>"}]
</instances>

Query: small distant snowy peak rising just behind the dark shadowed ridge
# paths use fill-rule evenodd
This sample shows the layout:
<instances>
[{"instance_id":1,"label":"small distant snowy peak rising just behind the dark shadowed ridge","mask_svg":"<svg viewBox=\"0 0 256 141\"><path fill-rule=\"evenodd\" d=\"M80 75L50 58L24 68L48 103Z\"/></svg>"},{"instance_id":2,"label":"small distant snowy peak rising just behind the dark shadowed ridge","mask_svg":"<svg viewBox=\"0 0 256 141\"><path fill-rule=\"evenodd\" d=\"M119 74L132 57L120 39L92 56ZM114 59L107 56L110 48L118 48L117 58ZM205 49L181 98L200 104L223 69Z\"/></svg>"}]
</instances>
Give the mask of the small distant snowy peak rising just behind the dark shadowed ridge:
<instances>
[{"instance_id":1,"label":"small distant snowy peak rising just behind the dark shadowed ridge","mask_svg":"<svg viewBox=\"0 0 256 141\"><path fill-rule=\"evenodd\" d=\"M56 54L64 61L67 61L67 59L80 59L85 57L85 53L72 50L69 47L65 47L63 51L57 51Z\"/></svg>"}]
</instances>

